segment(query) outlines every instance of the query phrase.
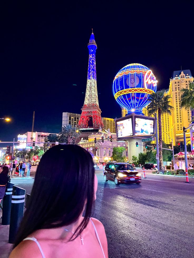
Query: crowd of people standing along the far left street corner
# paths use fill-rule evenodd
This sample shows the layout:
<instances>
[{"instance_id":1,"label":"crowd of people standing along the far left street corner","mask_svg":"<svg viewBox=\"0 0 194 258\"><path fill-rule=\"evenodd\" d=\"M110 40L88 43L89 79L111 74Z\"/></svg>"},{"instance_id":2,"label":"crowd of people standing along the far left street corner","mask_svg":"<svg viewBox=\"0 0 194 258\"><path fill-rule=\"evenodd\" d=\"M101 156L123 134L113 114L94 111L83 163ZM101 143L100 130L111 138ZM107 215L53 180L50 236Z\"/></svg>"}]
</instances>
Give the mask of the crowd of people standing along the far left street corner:
<instances>
[{"instance_id":1,"label":"crowd of people standing along the far left street corner","mask_svg":"<svg viewBox=\"0 0 194 258\"><path fill-rule=\"evenodd\" d=\"M27 162L27 174L26 177L30 177L30 169L31 169L31 161ZM8 173L10 173L10 175L14 176L14 175L19 175L19 176L25 176L25 170L26 170L26 162L23 161L21 163L18 163L17 161L13 161L13 164L11 166L11 163L7 164L7 163L3 163L1 165L0 163L0 173L2 172L3 168L7 167L8 168Z\"/></svg>"}]
</instances>

